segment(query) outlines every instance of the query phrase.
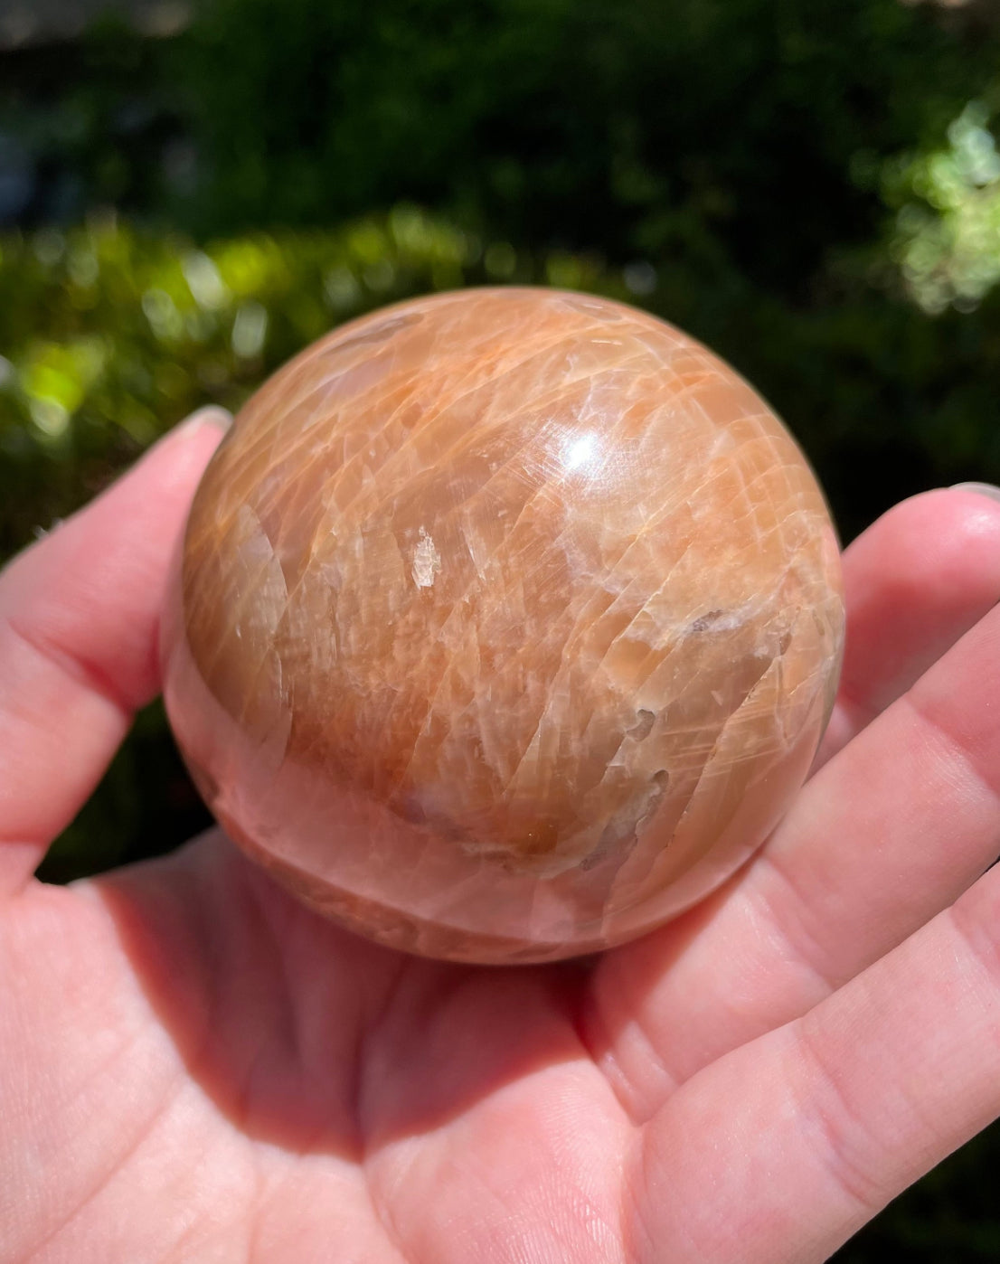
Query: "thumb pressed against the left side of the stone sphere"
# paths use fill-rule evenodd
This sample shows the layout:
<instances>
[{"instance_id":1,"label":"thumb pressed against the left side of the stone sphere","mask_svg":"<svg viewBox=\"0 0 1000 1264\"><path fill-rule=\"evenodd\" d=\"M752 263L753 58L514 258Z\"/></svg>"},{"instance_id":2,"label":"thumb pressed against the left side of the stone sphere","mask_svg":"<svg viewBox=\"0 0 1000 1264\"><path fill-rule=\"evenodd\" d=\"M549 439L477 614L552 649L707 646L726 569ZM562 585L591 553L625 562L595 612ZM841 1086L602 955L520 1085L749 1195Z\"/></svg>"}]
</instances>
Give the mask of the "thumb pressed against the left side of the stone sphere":
<instances>
[{"instance_id":1,"label":"thumb pressed against the left side of the stone sphere","mask_svg":"<svg viewBox=\"0 0 1000 1264\"><path fill-rule=\"evenodd\" d=\"M0 574L0 895L25 884L157 690L169 560L226 420L197 413Z\"/></svg>"}]
</instances>

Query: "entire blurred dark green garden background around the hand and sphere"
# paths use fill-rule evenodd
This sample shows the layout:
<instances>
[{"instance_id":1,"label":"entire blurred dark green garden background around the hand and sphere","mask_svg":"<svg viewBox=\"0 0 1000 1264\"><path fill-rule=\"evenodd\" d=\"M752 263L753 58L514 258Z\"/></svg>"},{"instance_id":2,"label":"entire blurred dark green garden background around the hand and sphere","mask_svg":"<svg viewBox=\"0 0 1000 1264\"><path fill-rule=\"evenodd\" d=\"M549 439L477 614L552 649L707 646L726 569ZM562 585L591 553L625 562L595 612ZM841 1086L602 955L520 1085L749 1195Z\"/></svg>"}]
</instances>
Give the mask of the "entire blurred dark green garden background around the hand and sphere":
<instances>
[{"instance_id":1,"label":"entire blurred dark green garden background around the hand and sphere","mask_svg":"<svg viewBox=\"0 0 1000 1264\"><path fill-rule=\"evenodd\" d=\"M996 0L0 0L0 560L331 325L463 284L647 307L845 538L1000 482ZM153 707L44 875L205 822ZM994 1129L838 1256L1000 1259Z\"/></svg>"}]
</instances>

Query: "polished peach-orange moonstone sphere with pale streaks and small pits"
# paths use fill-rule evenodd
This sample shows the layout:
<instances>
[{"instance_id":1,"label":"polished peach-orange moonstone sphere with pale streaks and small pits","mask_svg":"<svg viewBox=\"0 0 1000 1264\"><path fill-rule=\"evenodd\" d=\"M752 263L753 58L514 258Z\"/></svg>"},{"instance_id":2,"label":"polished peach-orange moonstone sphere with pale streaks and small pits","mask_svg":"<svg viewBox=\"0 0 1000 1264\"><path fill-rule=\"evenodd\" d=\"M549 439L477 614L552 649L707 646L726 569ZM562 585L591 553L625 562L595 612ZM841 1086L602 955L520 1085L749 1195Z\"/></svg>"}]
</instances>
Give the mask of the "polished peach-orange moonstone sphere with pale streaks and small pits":
<instances>
[{"instance_id":1,"label":"polished peach-orange moonstone sphere with pale streaks and small pits","mask_svg":"<svg viewBox=\"0 0 1000 1264\"><path fill-rule=\"evenodd\" d=\"M191 511L166 699L217 819L310 905L545 961L760 846L842 636L822 493L736 373L619 303L479 289L250 399Z\"/></svg>"}]
</instances>

